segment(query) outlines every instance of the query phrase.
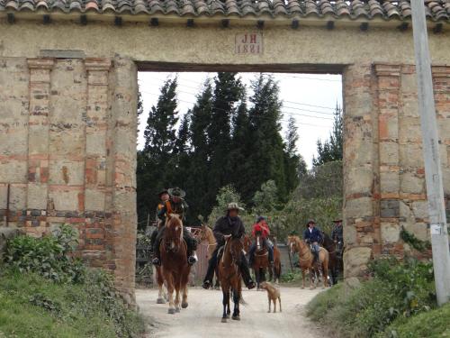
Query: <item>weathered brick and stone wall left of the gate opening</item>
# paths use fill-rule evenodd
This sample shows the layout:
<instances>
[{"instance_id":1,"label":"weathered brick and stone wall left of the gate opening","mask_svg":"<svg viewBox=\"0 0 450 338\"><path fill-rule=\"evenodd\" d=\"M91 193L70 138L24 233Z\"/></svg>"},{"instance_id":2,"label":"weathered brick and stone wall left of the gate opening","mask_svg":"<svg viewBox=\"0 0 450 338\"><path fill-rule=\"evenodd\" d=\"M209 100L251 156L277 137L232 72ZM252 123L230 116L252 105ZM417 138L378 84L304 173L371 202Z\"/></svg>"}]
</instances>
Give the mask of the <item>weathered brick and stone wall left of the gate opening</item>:
<instances>
[{"instance_id":1,"label":"weathered brick and stone wall left of the gate opening","mask_svg":"<svg viewBox=\"0 0 450 338\"><path fill-rule=\"evenodd\" d=\"M134 295L137 69L124 59L0 59L0 225L58 224Z\"/></svg>"}]
</instances>

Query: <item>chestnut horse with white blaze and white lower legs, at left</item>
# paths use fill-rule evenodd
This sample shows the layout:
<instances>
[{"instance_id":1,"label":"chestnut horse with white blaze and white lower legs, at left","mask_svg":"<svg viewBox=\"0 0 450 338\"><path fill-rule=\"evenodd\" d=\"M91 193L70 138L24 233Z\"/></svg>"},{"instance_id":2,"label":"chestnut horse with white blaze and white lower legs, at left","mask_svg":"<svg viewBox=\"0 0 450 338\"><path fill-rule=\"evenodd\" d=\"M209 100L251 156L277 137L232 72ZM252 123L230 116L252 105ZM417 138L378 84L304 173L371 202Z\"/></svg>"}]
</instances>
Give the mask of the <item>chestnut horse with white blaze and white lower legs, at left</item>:
<instances>
[{"instance_id":1,"label":"chestnut horse with white blaze and white lower legs, at left","mask_svg":"<svg viewBox=\"0 0 450 338\"><path fill-rule=\"evenodd\" d=\"M191 267L187 264L187 245L183 239L183 222L180 216L167 215L165 226L166 230L160 243L161 271L166 280L169 296L167 312L173 315L180 312L180 291L183 292L181 307L188 306L187 283Z\"/></svg>"}]
</instances>

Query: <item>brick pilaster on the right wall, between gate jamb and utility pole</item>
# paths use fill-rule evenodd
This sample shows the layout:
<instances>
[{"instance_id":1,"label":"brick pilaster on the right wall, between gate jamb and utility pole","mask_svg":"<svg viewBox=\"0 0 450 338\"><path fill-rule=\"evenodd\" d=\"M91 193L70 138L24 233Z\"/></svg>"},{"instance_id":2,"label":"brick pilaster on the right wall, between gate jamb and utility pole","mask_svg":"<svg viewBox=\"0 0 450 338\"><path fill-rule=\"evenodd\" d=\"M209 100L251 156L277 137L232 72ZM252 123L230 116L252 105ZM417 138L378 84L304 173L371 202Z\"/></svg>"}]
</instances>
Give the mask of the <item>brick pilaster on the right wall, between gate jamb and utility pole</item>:
<instances>
[{"instance_id":1,"label":"brick pilaster on the right wall, between gate jamb and utility pole","mask_svg":"<svg viewBox=\"0 0 450 338\"><path fill-rule=\"evenodd\" d=\"M401 66L374 66L378 91L378 142L380 160L380 231L382 253L401 253L399 105Z\"/></svg>"}]
</instances>

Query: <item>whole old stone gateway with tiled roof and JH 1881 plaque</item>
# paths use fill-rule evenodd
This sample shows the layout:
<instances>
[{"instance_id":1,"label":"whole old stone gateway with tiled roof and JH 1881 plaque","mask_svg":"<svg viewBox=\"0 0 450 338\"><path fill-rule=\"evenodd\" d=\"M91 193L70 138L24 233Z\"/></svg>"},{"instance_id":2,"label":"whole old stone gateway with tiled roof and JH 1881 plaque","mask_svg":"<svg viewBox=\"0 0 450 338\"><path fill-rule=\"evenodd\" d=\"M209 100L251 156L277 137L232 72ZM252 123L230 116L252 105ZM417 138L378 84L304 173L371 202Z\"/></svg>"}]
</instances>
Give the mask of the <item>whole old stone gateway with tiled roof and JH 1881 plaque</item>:
<instances>
[{"instance_id":1,"label":"whole old stone gateway with tiled roof and JH 1881 plaque","mask_svg":"<svg viewBox=\"0 0 450 338\"><path fill-rule=\"evenodd\" d=\"M450 7L427 11L450 196ZM408 0L0 0L0 225L72 224L132 302L138 70L340 73L345 272L364 274L410 250L401 226L429 236L410 15Z\"/></svg>"}]
</instances>

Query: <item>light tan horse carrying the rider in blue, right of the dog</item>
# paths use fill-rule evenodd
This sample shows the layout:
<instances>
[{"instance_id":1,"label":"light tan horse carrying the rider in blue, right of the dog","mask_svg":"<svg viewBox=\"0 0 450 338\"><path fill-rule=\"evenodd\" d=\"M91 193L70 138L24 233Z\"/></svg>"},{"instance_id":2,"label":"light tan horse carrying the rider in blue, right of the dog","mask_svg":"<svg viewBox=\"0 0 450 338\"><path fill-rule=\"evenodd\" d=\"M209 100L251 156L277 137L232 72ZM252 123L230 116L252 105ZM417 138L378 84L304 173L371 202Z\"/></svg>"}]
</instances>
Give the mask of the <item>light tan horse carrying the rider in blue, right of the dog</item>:
<instances>
[{"instance_id":1,"label":"light tan horse carrying the rider in blue, right of the dog","mask_svg":"<svg viewBox=\"0 0 450 338\"><path fill-rule=\"evenodd\" d=\"M317 264L313 264L314 255L311 252L310 246L303 242L298 236L288 236L288 245L291 248L291 253L297 252L299 254L299 265L302 269L302 288L305 288L305 272L310 271L311 289L316 288L316 283L312 281L314 273L319 276L319 269ZM327 288L329 284L329 251L320 248L319 263L323 273L323 288Z\"/></svg>"}]
</instances>

